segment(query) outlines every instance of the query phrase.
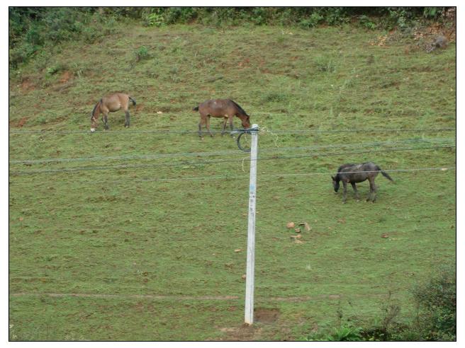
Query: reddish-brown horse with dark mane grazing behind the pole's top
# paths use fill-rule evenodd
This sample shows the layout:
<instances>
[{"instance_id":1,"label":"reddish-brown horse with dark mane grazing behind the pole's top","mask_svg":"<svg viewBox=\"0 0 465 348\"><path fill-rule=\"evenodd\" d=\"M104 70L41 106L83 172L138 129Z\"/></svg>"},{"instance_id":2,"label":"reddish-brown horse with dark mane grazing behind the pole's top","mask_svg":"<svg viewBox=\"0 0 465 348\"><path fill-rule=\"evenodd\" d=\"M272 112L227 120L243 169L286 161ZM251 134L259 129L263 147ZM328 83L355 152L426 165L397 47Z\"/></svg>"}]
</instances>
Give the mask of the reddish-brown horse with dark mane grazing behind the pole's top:
<instances>
[{"instance_id":1,"label":"reddish-brown horse with dark mane grazing behind the pole's top","mask_svg":"<svg viewBox=\"0 0 465 348\"><path fill-rule=\"evenodd\" d=\"M250 127L250 116L244 111L237 103L230 99L212 99L206 100L196 106L194 111L200 112L200 122L198 122L198 136L202 137L202 124L206 125L208 134L213 137L210 132L210 117L223 117L223 131L221 135L225 134L226 122L229 120L230 129L232 130L232 118L237 116L242 121L242 127Z\"/></svg>"}]
</instances>

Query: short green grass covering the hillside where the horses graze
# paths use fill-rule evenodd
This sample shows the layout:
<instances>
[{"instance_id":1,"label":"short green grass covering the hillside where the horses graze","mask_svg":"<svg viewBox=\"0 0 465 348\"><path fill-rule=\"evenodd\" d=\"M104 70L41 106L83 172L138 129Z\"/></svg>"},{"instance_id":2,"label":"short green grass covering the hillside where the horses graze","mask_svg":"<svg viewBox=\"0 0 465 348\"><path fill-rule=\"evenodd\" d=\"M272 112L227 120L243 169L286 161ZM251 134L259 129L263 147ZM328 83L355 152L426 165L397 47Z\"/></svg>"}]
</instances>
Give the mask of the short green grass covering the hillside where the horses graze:
<instances>
[{"instance_id":1,"label":"short green grass covering the hillside where the horses graze","mask_svg":"<svg viewBox=\"0 0 465 348\"><path fill-rule=\"evenodd\" d=\"M410 290L454 262L455 170L379 175L374 204L352 189L342 204L329 173L363 161L452 167L454 148L405 149L454 146L455 132L273 132L455 127L454 44L427 54L408 38L380 46L382 35L121 25L22 68L10 80L11 130L50 133L11 133L10 161L68 160L10 163L10 339L299 340L338 325L338 313L372 325L386 301L401 306L398 320L413 318ZM136 62L141 46L150 57ZM62 70L47 76L50 66ZM132 127L117 112L108 132L86 134L94 104L113 91L137 100ZM249 155L229 136L132 132L196 131L191 109L209 98L239 103L265 129L259 156L278 157L258 163L251 329ZM24 173L70 168L86 170ZM311 226L303 243L288 221Z\"/></svg>"}]
</instances>

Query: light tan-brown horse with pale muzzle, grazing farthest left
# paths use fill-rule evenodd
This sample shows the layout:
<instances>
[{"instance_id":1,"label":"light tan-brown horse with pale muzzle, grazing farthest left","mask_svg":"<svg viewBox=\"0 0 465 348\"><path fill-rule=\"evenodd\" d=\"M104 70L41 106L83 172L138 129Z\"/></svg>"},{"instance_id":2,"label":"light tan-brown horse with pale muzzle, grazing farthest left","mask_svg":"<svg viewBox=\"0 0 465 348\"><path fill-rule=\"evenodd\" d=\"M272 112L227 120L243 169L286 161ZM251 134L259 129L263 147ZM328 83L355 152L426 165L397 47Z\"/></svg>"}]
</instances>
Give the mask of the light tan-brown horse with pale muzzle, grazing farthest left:
<instances>
[{"instance_id":1,"label":"light tan-brown horse with pale muzzle, grazing farthest left","mask_svg":"<svg viewBox=\"0 0 465 348\"><path fill-rule=\"evenodd\" d=\"M103 114L103 127L105 127L105 129L108 129L108 112L115 112L120 109L123 109L125 112L124 127L129 127L129 100L135 106L135 100L124 93L113 93L111 95L107 95L106 97L101 98L101 100L99 100L99 103L96 103L96 105L94 106L94 110L92 110L91 113L91 132L95 132L95 129L98 125L99 115L101 113Z\"/></svg>"}]
</instances>

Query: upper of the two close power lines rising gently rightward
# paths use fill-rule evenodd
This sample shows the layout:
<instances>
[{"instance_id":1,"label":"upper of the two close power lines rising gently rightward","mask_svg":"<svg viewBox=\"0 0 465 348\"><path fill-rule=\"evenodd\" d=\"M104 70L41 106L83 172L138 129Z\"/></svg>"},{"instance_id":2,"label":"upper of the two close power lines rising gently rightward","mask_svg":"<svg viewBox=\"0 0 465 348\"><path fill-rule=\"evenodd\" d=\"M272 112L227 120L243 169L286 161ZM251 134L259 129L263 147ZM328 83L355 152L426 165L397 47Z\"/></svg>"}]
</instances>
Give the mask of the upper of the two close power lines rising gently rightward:
<instances>
[{"instance_id":1,"label":"upper of the two close power lines rising gently rightward","mask_svg":"<svg viewBox=\"0 0 465 348\"><path fill-rule=\"evenodd\" d=\"M284 147L284 148L265 148L260 149L260 152L284 152L284 151L305 151L305 150L316 150L316 149L334 149L334 148L364 148L366 146L385 146L385 145L397 145L405 143L434 143L435 140L439 140L446 145L448 142L454 141L454 139L429 139L433 141L425 141L418 139L405 139L401 141L376 141L371 143L357 143L357 144L330 144L330 145L318 145L318 146L298 146L298 147ZM438 141L438 142L439 142ZM42 158L35 160L13 160L9 161L11 164L37 164L37 163L59 163L59 162L77 162L77 161L111 161L111 160L131 160L131 159L156 159L156 158L174 158L182 156L193 156L193 157L206 157L206 156L221 156L221 155L241 155L242 152L237 150L229 151L211 151L211 152L184 152L184 153L157 153L152 155L122 155L122 156L95 156L95 157L77 157L77 158Z\"/></svg>"}]
</instances>

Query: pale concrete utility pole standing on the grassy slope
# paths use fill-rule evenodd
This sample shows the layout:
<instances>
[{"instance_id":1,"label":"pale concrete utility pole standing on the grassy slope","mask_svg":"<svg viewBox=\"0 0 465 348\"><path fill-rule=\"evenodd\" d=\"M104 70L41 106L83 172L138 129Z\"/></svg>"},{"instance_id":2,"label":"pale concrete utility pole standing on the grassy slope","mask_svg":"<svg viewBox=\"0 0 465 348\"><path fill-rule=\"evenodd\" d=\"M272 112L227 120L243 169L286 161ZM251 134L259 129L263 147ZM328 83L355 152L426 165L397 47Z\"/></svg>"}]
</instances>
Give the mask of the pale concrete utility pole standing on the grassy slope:
<instances>
[{"instance_id":1,"label":"pale concrete utility pole standing on the grassy slope","mask_svg":"<svg viewBox=\"0 0 465 348\"><path fill-rule=\"evenodd\" d=\"M247 228L247 272L245 278L245 323L254 323L255 200L257 198L258 124L250 129L249 225Z\"/></svg>"}]
</instances>

